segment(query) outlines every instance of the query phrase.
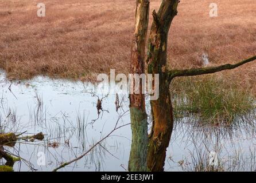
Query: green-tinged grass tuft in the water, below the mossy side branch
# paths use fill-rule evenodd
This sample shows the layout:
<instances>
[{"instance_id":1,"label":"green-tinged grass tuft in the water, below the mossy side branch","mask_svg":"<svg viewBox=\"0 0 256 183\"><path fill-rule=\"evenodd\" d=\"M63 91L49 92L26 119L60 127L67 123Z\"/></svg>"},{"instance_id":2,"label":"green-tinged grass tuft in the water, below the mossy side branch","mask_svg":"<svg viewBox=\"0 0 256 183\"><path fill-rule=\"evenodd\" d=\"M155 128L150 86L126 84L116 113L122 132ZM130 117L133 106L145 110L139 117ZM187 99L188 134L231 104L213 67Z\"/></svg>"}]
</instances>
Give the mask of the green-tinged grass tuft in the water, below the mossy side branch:
<instances>
[{"instance_id":1,"label":"green-tinged grass tuft in the water, below the mossy side branch","mask_svg":"<svg viewBox=\"0 0 256 183\"><path fill-rule=\"evenodd\" d=\"M254 112L256 106L250 87L212 75L175 79L172 93L176 118L193 114L213 125L231 125Z\"/></svg>"}]
</instances>

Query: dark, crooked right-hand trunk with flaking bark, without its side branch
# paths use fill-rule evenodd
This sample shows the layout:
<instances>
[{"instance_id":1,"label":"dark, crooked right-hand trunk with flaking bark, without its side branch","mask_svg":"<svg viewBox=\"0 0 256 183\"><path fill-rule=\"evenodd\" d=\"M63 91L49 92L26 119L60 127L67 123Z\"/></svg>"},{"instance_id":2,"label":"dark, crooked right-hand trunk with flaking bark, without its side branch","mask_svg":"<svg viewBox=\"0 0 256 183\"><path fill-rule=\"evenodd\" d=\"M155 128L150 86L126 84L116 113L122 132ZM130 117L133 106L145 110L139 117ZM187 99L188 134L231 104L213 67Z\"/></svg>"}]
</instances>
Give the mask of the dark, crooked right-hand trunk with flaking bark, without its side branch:
<instances>
[{"instance_id":1,"label":"dark, crooked right-hand trunk with flaking bark, without its side branch","mask_svg":"<svg viewBox=\"0 0 256 183\"><path fill-rule=\"evenodd\" d=\"M148 170L164 170L166 148L169 146L173 130L173 109L170 100L168 73L166 73L167 39L174 16L177 14L178 0L162 1L158 13L153 11L153 24L148 47L148 73L159 74L159 98L151 101L152 132L149 135Z\"/></svg>"}]
</instances>

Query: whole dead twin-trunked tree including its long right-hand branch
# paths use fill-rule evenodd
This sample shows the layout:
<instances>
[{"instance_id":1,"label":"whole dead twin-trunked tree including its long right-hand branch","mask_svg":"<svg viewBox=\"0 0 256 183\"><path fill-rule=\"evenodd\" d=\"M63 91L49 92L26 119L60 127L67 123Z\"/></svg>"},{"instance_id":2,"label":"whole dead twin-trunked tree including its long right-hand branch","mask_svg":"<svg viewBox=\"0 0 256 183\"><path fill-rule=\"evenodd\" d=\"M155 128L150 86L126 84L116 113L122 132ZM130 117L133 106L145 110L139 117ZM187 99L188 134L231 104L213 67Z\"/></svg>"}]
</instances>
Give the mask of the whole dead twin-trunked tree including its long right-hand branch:
<instances>
[{"instance_id":1,"label":"whole dead twin-trunked tree including its long right-hand branch","mask_svg":"<svg viewBox=\"0 0 256 183\"><path fill-rule=\"evenodd\" d=\"M234 65L226 64L217 67L199 69L167 70L167 40L170 25L177 15L179 0L162 0L156 13L153 10L153 23L150 31L148 54L148 73L159 74L159 98L151 101L152 130L146 138L147 120L145 113L145 98L142 93L130 95L131 128L133 140L129 160L130 171L163 171L166 157L166 148L169 146L173 130L173 109L170 98L169 85L173 78L191 75L216 73L226 69L234 69L245 63L254 61L256 56L238 62ZM135 33L131 50L131 73L141 74L144 71L144 51L146 29L148 27L149 0L138 1L136 9ZM134 88L134 85L132 86ZM141 87L141 85L140 85ZM146 142L148 152L146 153ZM145 168L145 157L147 166Z\"/></svg>"}]
</instances>

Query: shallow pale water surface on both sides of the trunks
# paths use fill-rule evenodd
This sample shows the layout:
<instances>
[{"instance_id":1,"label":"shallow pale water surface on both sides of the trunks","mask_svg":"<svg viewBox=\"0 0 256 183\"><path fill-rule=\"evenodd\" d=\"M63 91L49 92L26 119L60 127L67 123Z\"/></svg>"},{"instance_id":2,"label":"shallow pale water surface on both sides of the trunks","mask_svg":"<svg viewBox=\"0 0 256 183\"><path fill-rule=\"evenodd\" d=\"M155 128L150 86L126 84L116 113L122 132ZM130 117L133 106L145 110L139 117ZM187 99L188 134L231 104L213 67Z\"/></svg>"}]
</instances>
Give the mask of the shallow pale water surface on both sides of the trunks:
<instances>
[{"instance_id":1,"label":"shallow pale water surface on both sides of the trunks","mask_svg":"<svg viewBox=\"0 0 256 183\"><path fill-rule=\"evenodd\" d=\"M29 81L7 81L0 74L0 121L5 132L45 134L44 141L19 141L9 152L20 156L15 171L51 171L61 162L86 152L106 136L120 116L118 125L130 123L129 102L119 96L122 108L115 108L116 95L103 98L98 118L96 103L106 95L92 83L36 77ZM94 96L91 92L96 95ZM98 97L97 97L98 96ZM150 111L150 110L149 110ZM95 119L97 119L94 121ZM238 118L232 128L199 126L193 117L176 119L165 170L191 170L193 157L205 152L218 154L228 170L255 170L255 118ZM65 171L125 171L131 145L130 125L118 129L90 154ZM42 153L45 154L45 161ZM44 157L44 156L43 156ZM237 157L240 157L237 162ZM39 162L39 163L38 163ZM0 160L0 164L4 164ZM241 164L244 164L241 168Z\"/></svg>"}]
</instances>

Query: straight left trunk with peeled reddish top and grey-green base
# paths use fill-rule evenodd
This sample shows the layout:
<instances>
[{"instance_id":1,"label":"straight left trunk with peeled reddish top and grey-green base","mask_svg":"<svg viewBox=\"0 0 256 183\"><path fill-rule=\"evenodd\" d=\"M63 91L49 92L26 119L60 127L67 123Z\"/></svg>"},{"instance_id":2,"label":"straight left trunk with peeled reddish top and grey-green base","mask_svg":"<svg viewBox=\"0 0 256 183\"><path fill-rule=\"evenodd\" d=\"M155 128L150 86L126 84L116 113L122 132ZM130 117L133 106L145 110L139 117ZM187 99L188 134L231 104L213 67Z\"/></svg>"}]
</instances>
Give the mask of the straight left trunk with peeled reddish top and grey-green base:
<instances>
[{"instance_id":1,"label":"straight left trunk with peeled reddish top and grey-green base","mask_svg":"<svg viewBox=\"0 0 256 183\"><path fill-rule=\"evenodd\" d=\"M131 73L145 72L145 45L148 31L149 0L136 1L135 30L131 46ZM148 147L148 121L145 109L145 96L142 94L142 82L139 94L130 94L130 116L132 142L129 159L129 171L146 171L146 154ZM135 82L131 86L135 91Z\"/></svg>"}]
</instances>

